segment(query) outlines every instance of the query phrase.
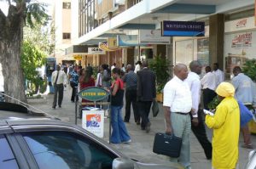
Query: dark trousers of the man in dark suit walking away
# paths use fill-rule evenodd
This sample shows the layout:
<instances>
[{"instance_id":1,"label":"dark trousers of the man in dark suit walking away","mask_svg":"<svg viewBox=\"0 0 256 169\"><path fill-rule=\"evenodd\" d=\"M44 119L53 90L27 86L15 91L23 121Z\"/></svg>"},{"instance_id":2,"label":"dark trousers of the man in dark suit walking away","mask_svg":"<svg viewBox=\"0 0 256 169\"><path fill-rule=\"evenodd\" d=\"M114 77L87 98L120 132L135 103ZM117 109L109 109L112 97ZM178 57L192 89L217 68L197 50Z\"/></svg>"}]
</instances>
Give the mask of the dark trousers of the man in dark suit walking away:
<instances>
[{"instance_id":1,"label":"dark trousers of the man in dark suit walking away","mask_svg":"<svg viewBox=\"0 0 256 169\"><path fill-rule=\"evenodd\" d=\"M142 123L141 123L142 129L145 129L146 125L149 122L148 115L149 115L151 104L152 104L152 101L138 101L137 102L139 114L142 117Z\"/></svg>"}]
</instances>

